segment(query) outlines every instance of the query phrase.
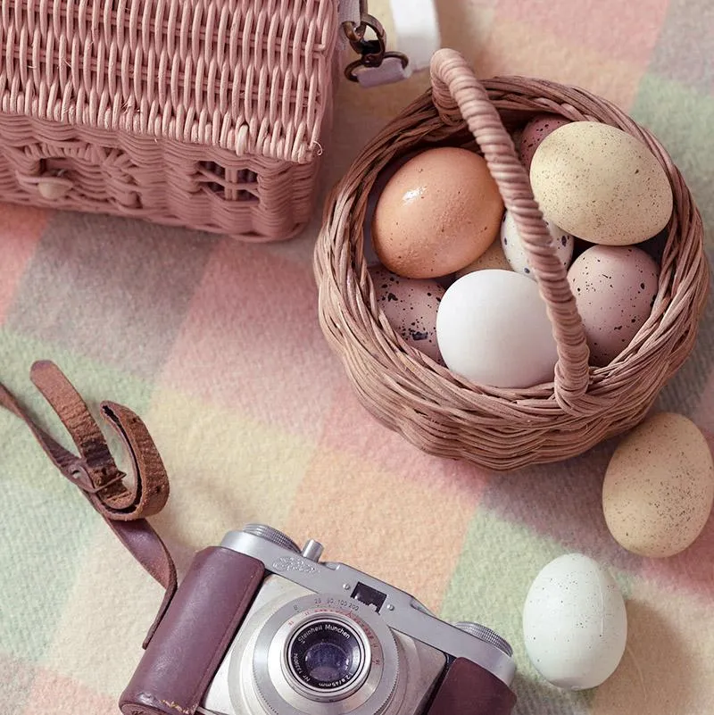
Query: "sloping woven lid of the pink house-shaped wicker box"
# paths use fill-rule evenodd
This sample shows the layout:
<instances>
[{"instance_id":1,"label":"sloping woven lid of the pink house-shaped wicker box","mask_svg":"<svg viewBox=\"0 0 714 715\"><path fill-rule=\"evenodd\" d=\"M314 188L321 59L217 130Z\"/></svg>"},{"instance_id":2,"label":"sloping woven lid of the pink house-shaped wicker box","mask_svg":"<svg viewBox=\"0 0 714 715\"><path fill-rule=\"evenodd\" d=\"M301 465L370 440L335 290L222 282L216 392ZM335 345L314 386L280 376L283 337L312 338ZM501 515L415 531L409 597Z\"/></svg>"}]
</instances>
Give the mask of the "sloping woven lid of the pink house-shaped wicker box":
<instances>
[{"instance_id":1,"label":"sloping woven lid of the pink house-shaped wicker box","mask_svg":"<svg viewBox=\"0 0 714 715\"><path fill-rule=\"evenodd\" d=\"M332 101L336 0L18 0L2 111L306 163Z\"/></svg>"}]
</instances>

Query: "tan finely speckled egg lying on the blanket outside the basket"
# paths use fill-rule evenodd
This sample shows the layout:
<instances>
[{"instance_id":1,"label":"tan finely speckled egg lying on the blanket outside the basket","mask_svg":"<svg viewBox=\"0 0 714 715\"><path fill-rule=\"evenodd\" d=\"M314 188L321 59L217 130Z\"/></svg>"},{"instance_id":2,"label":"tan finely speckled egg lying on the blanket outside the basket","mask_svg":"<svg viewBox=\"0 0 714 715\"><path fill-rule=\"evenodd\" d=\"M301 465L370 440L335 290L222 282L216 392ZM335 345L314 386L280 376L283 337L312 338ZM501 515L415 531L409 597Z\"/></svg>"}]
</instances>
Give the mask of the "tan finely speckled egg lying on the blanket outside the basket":
<instances>
[{"instance_id":1,"label":"tan finely speckled egg lying on the blanket outside the basket","mask_svg":"<svg viewBox=\"0 0 714 715\"><path fill-rule=\"evenodd\" d=\"M691 545L709 519L714 463L699 428L660 412L630 432L602 484L610 533L628 551L665 557Z\"/></svg>"}]
</instances>

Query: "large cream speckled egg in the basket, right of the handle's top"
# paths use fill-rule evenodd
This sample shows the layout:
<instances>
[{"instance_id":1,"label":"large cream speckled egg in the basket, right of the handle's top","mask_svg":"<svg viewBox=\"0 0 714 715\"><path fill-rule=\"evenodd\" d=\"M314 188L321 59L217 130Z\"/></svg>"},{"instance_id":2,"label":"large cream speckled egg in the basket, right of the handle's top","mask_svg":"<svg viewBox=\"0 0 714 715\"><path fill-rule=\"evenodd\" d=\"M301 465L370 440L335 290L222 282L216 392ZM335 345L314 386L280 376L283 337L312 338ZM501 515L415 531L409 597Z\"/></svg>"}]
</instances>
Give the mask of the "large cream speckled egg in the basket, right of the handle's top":
<instances>
[{"instance_id":1,"label":"large cream speckled egg in the basket, right of the handle's top","mask_svg":"<svg viewBox=\"0 0 714 715\"><path fill-rule=\"evenodd\" d=\"M574 121L535 150L535 200L561 229L594 244L632 245L672 215L665 170L639 139L594 121Z\"/></svg>"}]
</instances>

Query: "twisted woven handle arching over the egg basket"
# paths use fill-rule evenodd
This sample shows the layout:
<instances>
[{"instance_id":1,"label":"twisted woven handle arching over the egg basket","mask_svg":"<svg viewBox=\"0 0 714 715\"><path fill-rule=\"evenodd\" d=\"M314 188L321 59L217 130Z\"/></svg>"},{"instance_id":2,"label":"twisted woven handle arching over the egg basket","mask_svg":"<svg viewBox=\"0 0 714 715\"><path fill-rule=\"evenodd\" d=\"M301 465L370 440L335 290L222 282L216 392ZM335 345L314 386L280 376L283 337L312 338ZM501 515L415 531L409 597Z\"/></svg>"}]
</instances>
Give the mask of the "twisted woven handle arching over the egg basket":
<instances>
[{"instance_id":1,"label":"twisted woven handle arching over the egg basket","mask_svg":"<svg viewBox=\"0 0 714 715\"><path fill-rule=\"evenodd\" d=\"M543 214L533 197L526 170L501 117L469 64L455 50L439 50L431 61L433 101L447 124L466 121L484 153L488 169L513 214L541 295L548 306L558 344L555 398L571 411L585 395L589 379L589 351L585 330L570 291L566 270L555 253Z\"/></svg>"}]
</instances>

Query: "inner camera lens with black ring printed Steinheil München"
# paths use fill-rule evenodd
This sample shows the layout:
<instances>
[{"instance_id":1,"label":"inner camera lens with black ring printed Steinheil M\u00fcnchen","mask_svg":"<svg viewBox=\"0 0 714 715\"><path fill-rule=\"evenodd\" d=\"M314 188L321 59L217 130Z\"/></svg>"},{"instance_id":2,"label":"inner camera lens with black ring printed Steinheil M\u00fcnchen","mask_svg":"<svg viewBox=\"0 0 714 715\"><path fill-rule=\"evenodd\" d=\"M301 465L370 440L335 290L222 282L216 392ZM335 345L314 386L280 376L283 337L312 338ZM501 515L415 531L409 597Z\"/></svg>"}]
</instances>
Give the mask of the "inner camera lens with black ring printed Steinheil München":
<instances>
[{"instance_id":1,"label":"inner camera lens with black ring printed Steinheil M\u00fcnchen","mask_svg":"<svg viewBox=\"0 0 714 715\"><path fill-rule=\"evenodd\" d=\"M350 686L366 664L364 644L355 629L341 619L324 617L296 631L287 659L295 678L320 692Z\"/></svg>"}]
</instances>

